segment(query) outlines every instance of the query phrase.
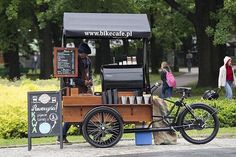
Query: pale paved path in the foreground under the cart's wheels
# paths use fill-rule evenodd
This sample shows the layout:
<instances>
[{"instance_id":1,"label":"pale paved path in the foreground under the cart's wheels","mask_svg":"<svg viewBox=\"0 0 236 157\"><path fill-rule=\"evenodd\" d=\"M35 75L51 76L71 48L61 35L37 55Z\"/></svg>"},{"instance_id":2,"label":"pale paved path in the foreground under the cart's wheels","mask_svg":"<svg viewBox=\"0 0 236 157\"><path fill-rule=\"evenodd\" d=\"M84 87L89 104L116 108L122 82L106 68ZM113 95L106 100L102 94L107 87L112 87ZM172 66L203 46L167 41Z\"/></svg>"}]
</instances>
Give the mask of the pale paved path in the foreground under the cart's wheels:
<instances>
[{"instance_id":1,"label":"pale paved path in the foreground under the cart's wheels","mask_svg":"<svg viewBox=\"0 0 236 157\"><path fill-rule=\"evenodd\" d=\"M1 157L95 157L95 156L158 156L173 157L187 156L200 157L201 153L210 150L214 157L219 155L231 157L235 156L236 139L214 139L204 145L194 145L184 139L178 139L177 145L147 145L135 146L133 140L122 140L111 148L94 148L88 143L64 145L63 149L59 145L33 146L31 151L27 147L0 149ZM219 151L221 150L221 151ZM188 153L186 153L188 152ZM227 154L228 152L228 154ZM183 154L181 154L183 153ZM203 156L209 156L203 155Z\"/></svg>"}]
</instances>

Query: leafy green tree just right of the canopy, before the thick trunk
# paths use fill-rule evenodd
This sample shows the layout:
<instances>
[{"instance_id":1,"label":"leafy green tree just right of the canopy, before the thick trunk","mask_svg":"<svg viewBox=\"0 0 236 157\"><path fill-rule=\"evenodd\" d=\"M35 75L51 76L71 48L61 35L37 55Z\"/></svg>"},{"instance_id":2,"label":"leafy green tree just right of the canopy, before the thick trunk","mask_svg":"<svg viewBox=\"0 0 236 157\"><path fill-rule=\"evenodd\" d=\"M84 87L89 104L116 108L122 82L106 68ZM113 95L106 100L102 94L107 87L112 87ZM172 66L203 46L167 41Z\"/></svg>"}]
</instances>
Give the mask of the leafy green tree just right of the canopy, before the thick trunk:
<instances>
[{"instance_id":1,"label":"leafy green tree just right of the canopy, before the thick trunk","mask_svg":"<svg viewBox=\"0 0 236 157\"><path fill-rule=\"evenodd\" d=\"M157 73L161 62L166 60L165 54L179 50L182 42L194 31L191 24L181 14L173 12L164 1L133 0L133 3L137 12L148 14L152 30L151 68Z\"/></svg>"}]
</instances>

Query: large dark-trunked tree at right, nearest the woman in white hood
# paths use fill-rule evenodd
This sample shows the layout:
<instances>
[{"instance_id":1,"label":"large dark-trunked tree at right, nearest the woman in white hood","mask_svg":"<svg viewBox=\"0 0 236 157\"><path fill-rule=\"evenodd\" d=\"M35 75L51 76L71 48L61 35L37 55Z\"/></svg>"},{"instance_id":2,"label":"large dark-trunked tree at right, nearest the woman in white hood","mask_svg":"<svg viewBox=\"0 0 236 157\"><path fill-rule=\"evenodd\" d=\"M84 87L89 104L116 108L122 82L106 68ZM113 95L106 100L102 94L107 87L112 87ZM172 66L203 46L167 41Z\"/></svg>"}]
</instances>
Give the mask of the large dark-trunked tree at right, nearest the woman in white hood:
<instances>
[{"instance_id":1,"label":"large dark-trunked tree at right, nearest the woman in white hood","mask_svg":"<svg viewBox=\"0 0 236 157\"><path fill-rule=\"evenodd\" d=\"M214 44L214 36L209 34L209 28L216 31L219 20L212 15L219 15L224 0L164 1L193 24L199 53L198 86L216 86L218 69L225 55L225 44Z\"/></svg>"}]
</instances>

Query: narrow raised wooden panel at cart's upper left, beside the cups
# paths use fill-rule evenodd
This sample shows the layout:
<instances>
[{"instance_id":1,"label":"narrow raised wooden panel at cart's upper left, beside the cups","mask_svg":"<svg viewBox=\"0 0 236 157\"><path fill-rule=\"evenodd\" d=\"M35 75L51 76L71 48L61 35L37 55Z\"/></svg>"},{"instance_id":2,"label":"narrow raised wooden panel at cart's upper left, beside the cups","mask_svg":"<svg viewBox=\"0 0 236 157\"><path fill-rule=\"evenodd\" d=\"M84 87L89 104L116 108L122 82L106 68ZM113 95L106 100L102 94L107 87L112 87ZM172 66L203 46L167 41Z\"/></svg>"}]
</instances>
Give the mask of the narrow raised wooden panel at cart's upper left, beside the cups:
<instances>
[{"instance_id":1,"label":"narrow raised wooden panel at cart's upper left, beside the cups","mask_svg":"<svg viewBox=\"0 0 236 157\"><path fill-rule=\"evenodd\" d=\"M102 104L101 96L63 96L63 106L76 106L86 104Z\"/></svg>"}]
</instances>

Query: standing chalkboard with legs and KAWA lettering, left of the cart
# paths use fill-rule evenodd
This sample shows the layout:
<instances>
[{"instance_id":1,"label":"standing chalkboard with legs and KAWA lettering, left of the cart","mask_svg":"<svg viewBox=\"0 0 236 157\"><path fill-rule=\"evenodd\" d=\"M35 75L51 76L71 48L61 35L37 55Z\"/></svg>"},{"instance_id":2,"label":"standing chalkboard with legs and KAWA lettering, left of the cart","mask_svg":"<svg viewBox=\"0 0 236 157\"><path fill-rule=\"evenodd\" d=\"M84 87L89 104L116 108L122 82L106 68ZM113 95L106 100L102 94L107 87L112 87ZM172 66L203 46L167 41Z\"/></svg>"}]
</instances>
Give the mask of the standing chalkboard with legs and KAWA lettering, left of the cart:
<instances>
[{"instance_id":1,"label":"standing chalkboard with legs and KAWA lettering, left of the cart","mask_svg":"<svg viewBox=\"0 0 236 157\"><path fill-rule=\"evenodd\" d=\"M28 151L32 137L59 136L62 142L61 92L28 92Z\"/></svg>"}]
</instances>

